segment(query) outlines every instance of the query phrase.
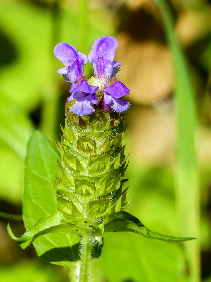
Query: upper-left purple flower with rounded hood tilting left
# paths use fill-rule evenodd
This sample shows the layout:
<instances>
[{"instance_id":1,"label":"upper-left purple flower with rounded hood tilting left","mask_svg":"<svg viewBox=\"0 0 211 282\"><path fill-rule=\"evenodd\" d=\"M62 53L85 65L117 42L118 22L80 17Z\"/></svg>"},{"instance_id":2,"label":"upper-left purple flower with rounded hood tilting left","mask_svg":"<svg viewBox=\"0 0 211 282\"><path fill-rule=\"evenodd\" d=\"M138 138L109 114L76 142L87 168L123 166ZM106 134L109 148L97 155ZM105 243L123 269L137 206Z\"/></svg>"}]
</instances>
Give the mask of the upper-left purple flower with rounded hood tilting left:
<instances>
[{"instance_id":1,"label":"upper-left purple flower with rounded hood tilting left","mask_svg":"<svg viewBox=\"0 0 211 282\"><path fill-rule=\"evenodd\" d=\"M77 52L76 48L63 42L55 46L54 55L65 66L57 70L57 73L64 75L65 80L74 83L84 76L84 65L87 63L86 55Z\"/></svg>"}]
</instances>

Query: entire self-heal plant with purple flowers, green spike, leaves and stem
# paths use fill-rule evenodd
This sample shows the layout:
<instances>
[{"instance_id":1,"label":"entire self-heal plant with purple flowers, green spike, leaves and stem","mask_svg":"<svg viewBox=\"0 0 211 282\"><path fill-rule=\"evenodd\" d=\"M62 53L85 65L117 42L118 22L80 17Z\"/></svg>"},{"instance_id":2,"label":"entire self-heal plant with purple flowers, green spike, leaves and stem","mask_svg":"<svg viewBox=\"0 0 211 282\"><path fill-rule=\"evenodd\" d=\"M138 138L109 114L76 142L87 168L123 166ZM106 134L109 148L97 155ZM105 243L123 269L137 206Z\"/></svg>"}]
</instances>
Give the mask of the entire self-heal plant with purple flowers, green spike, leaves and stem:
<instances>
[{"instance_id":1,"label":"entire self-heal plant with purple flowers, green spike, leaves and stem","mask_svg":"<svg viewBox=\"0 0 211 282\"><path fill-rule=\"evenodd\" d=\"M57 73L72 83L58 145L58 177L50 190L55 172L49 157L55 159L56 154L36 132L29 142L23 193L28 230L16 238L8 226L10 236L22 248L33 242L39 256L67 266L71 281L75 282L88 281L91 258L100 255L105 232L127 231L169 242L193 239L152 232L126 211L130 200L126 200L128 188L123 188L127 182L127 157L122 139L129 102L121 98L129 89L116 79L121 65L113 61L117 46L111 36L94 42L88 56L94 70L91 78L84 75L84 54L67 43L55 47L55 56L65 66ZM38 165L40 160L43 168ZM31 213L33 205L40 216Z\"/></svg>"}]
</instances>

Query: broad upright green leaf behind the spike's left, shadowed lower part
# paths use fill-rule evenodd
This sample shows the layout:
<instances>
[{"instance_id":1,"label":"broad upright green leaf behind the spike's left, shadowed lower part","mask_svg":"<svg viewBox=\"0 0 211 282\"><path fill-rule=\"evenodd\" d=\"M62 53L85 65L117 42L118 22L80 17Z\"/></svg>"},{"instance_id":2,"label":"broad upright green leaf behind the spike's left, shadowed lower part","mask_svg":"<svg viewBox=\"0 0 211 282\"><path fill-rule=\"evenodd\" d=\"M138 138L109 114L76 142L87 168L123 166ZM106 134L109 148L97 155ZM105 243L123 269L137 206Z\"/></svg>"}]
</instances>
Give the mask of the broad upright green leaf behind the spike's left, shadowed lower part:
<instances>
[{"instance_id":1,"label":"broad upright green leaf behind the spike's left, shadowed lower part","mask_svg":"<svg viewBox=\"0 0 211 282\"><path fill-rule=\"evenodd\" d=\"M43 216L57 211L56 197L52 192L57 176L57 158L49 140L35 131L28 144L23 191L23 220L30 229ZM36 239L33 245L43 259L70 266L70 261L78 257L79 239L76 234L47 234Z\"/></svg>"}]
</instances>

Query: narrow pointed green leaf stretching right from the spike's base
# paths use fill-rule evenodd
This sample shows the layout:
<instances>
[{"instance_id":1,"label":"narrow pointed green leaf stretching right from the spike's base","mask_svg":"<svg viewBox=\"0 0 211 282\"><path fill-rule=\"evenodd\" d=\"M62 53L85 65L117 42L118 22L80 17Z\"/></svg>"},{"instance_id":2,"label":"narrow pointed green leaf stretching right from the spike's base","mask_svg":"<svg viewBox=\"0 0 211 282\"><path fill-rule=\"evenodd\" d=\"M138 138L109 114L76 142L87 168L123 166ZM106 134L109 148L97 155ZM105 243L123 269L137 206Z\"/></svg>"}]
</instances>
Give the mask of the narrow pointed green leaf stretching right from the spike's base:
<instances>
[{"instance_id":1,"label":"narrow pointed green leaf stretching right from the spike's base","mask_svg":"<svg viewBox=\"0 0 211 282\"><path fill-rule=\"evenodd\" d=\"M140 234L144 237L147 237L148 239L158 239L161 241L166 241L166 242L171 242L171 243L183 242L183 241L195 239L192 237L168 236L168 235L150 231L135 216L132 216L131 214L127 212L120 213L120 216L118 216L118 218L113 219L112 221L108 222L107 224L105 224L105 227L104 227L104 233L105 232L122 232L122 231Z\"/></svg>"}]
</instances>

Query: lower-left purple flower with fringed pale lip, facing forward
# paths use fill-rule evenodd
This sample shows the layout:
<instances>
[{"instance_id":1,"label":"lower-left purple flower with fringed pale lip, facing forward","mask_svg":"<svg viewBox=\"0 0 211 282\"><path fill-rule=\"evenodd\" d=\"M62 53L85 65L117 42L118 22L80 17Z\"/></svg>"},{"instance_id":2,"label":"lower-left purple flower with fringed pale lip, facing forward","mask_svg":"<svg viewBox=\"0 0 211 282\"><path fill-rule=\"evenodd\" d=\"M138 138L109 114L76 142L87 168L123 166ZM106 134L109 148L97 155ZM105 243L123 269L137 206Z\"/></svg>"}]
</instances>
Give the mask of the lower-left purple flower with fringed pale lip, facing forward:
<instances>
[{"instance_id":1,"label":"lower-left purple flower with fringed pale lip, facing forward","mask_svg":"<svg viewBox=\"0 0 211 282\"><path fill-rule=\"evenodd\" d=\"M69 92L73 94L67 100L76 99L76 102L70 111L76 115L92 114L95 111L93 105L97 105L97 90L98 86L89 85L86 80L81 80L79 84L72 83Z\"/></svg>"}]
</instances>

